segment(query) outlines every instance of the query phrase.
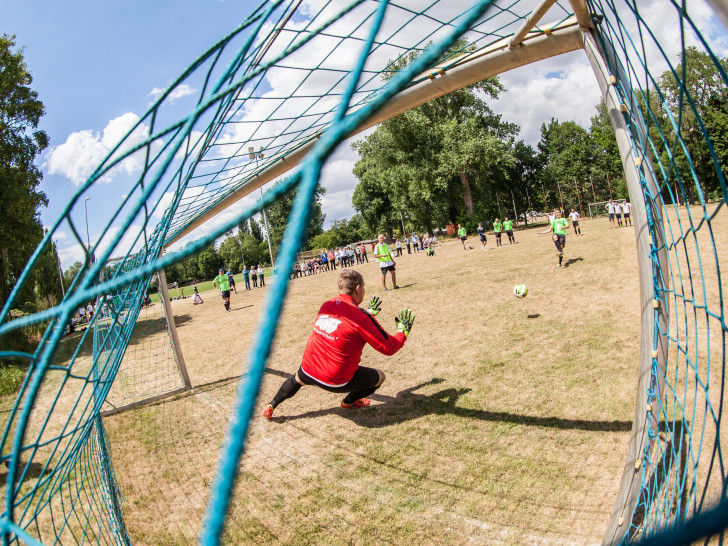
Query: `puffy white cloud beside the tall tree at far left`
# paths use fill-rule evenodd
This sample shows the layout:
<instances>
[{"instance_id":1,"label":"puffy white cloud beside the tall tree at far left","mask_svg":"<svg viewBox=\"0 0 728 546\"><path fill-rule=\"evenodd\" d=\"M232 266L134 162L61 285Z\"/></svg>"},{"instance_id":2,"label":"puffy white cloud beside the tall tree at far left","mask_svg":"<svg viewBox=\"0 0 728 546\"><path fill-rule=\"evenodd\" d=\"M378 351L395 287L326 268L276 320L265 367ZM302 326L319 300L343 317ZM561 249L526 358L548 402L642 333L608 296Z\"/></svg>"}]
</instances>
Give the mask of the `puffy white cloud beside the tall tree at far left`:
<instances>
[{"instance_id":1,"label":"puffy white cloud beside the tall tree at far left","mask_svg":"<svg viewBox=\"0 0 728 546\"><path fill-rule=\"evenodd\" d=\"M139 116L127 112L106 124L103 131L98 133L90 129L76 131L68 135L66 142L50 148L46 155L46 167L49 174L65 176L76 186L82 184L101 164L103 159L111 152L114 146L139 121ZM115 157L123 155L130 148L142 142L148 135L149 128L142 124L129 135L124 144L116 152ZM153 149L158 149L153 146ZM114 167L114 171L134 174L144 165L144 150L125 158ZM111 181L112 174L102 179Z\"/></svg>"}]
</instances>

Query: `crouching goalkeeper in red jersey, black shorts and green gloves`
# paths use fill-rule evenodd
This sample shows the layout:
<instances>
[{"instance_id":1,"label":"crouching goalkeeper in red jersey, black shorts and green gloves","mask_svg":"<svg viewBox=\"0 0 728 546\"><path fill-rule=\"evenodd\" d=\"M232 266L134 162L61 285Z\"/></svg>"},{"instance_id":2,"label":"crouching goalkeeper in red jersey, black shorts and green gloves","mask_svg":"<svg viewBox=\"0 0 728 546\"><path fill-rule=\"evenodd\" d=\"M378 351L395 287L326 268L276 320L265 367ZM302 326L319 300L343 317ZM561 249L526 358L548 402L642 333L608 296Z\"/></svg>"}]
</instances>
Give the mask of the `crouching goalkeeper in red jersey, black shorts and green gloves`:
<instances>
[{"instance_id":1,"label":"crouching goalkeeper in red jersey, black shorts and green gloves","mask_svg":"<svg viewBox=\"0 0 728 546\"><path fill-rule=\"evenodd\" d=\"M359 307L362 301L364 278L358 271L344 269L339 273L339 295L319 309L301 367L263 409L264 417L273 417L273 410L303 385L348 393L341 401L342 408L364 408L371 403L366 397L384 383L384 373L359 366L364 345L369 343L380 353L393 355L404 345L415 317L409 309L400 311L394 319L398 331L390 335L374 318L382 301L374 296L366 311Z\"/></svg>"}]
</instances>

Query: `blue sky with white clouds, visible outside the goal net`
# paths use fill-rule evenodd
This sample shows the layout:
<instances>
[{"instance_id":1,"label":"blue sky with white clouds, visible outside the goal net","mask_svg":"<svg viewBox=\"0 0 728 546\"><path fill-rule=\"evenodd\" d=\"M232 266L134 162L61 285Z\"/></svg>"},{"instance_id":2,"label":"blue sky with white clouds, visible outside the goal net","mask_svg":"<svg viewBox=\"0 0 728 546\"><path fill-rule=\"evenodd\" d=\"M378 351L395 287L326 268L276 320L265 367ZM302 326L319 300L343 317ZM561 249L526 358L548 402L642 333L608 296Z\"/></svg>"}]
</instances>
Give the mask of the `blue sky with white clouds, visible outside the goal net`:
<instances>
[{"instance_id":1,"label":"blue sky with white clouds, visible outside the goal net","mask_svg":"<svg viewBox=\"0 0 728 546\"><path fill-rule=\"evenodd\" d=\"M50 137L50 148L37 161L44 173L41 189L50 202L41 212L45 225L53 224L78 185L143 115L160 90L256 6L250 1L231 0L0 0L0 33L16 35L16 45L23 48L34 79L32 87L46 107L41 129ZM659 19L664 2L645 0L641 6L643 12L652 12ZM728 54L728 40L711 18L709 8L702 0L691 6L698 25L715 40L716 53ZM669 42L676 30L674 24L660 26L659 32ZM676 47L667 44L668 50ZM541 124L552 117L588 127L600 100L582 51L507 72L501 81L507 92L491 107L507 121L517 123L521 127L519 138L534 146ZM194 91L182 86L175 99L183 105L185 95ZM356 153L345 142L323 172L327 189L322 203L325 227L355 212L351 196L356 185L352 174L356 160ZM92 242L108 221L109 205L126 195L133 174L130 166L118 180L96 184L87 194L86 207L74 209L77 226L85 227L88 213ZM230 210L227 215L234 213ZM159 211L157 217L161 217ZM218 223L225 217L223 213ZM209 224L192 238L214 227L214 222ZM60 229L56 236L64 268L80 258L80 247L69 232Z\"/></svg>"}]
</instances>

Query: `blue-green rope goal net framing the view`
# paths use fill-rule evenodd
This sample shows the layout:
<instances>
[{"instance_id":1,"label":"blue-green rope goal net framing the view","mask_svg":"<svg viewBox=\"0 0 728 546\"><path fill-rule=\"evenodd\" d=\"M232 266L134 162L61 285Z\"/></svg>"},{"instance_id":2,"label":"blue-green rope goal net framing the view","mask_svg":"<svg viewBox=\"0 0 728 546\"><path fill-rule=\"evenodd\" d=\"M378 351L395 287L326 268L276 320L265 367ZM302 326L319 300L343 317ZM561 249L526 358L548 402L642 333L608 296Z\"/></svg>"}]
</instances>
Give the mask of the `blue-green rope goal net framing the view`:
<instances>
[{"instance_id":1,"label":"blue-green rope goal net framing the view","mask_svg":"<svg viewBox=\"0 0 728 546\"><path fill-rule=\"evenodd\" d=\"M722 533L728 519L721 515L726 506L726 444L720 427L726 324L720 262L728 246L717 240L713 224L725 214L728 193L721 170L725 139L712 134L723 135L714 118L725 111L725 67L709 46L711 37L701 34L682 4L664 2L645 13L636 2L573 5L592 14L586 16L587 26L594 27L614 75L631 149L642 158L637 165L642 191L630 200L646 206L643 227L653 243L641 259L651 264L654 282L643 291L656 300L654 347L666 347L664 360L656 356L647 362L646 395L656 418L644 421L648 441L641 444L634 471L636 508L628 511L616 538ZM71 198L2 311L0 340L18 328L49 321L32 354L0 352L2 358L29 364L2 439L8 466L2 516L6 541L129 542L100 412L105 404L125 404L179 385L164 320L148 316L154 308L142 311L155 272L202 250L297 187L276 260L281 271L290 271L321 168L336 146L399 93L462 64L465 52L452 48L460 37L467 37L472 48L468 58L499 49L535 7L525 0L266 2L180 75ZM552 37L575 27L573 12L579 10L555 2L526 38ZM672 19L666 27L668 11ZM707 57L715 73L717 102L709 104L711 110L700 102L701 90L691 84L685 65L678 66L665 52L668 40L680 43L681 58L691 53L690 46ZM391 60L410 51L421 55L393 75ZM660 79L665 70L672 71L672 81ZM175 100L190 88L199 90L195 103L180 114ZM251 147L264 154L251 159ZM228 214L182 250L162 253L221 212L231 198L257 189L263 175L282 174L304 156L301 168L256 204ZM122 204L109 208L101 236L87 248L77 229L84 197L119 172L141 174ZM708 197L716 203L709 204ZM73 285L58 306L10 320L20 287L62 227L86 257ZM239 386L211 489L204 543L217 543L221 536L288 280L282 275L272 284L251 347L249 373ZM106 311L96 313L70 350L60 350L64 327L89 301L97 309L106 305ZM154 356L140 360L138 353ZM717 511L710 511L716 504ZM692 526L682 526L689 518L695 518Z\"/></svg>"}]
</instances>

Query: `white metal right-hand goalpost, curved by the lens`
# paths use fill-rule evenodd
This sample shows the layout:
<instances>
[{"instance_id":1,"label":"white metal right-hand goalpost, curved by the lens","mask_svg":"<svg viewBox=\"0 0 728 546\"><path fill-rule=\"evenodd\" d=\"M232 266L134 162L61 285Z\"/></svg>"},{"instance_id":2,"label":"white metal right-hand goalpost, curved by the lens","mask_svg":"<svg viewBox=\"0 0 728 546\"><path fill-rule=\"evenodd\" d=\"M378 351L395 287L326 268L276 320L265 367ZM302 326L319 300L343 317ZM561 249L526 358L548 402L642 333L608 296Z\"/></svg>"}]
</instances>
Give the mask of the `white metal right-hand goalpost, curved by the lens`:
<instances>
[{"instance_id":1,"label":"white metal right-hand goalpost, curved by the lens","mask_svg":"<svg viewBox=\"0 0 728 546\"><path fill-rule=\"evenodd\" d=\"M630 79L611 44L605 42L604 46L606 51L600 49L591 33L584 33L584 49L607 104L632 201L642 315L639 379L632 437L621 485L603 539L603 544L617 544L629 528L639 499L642 479L648 478L643 474L642 458L645 449L654 442L650 431L656 432L659 429L659 409L652 408L652 401L660 400L664 391L667 336L661 332L668 331L668 298L665 297L665 291L669 288L666 277L669 265L662 224L664 205L659 185L649 167L649 157L642 157L639 149L633 148L633 143L646 140L646 129L638 124L627 125L625 115L621 112L619 94L630 92ZM607 68L605 57L611 60L612 71ZM627 95L625 99L629 100L631 97Z\"/></svg>"}]
</instances>

